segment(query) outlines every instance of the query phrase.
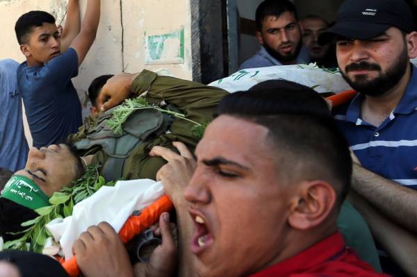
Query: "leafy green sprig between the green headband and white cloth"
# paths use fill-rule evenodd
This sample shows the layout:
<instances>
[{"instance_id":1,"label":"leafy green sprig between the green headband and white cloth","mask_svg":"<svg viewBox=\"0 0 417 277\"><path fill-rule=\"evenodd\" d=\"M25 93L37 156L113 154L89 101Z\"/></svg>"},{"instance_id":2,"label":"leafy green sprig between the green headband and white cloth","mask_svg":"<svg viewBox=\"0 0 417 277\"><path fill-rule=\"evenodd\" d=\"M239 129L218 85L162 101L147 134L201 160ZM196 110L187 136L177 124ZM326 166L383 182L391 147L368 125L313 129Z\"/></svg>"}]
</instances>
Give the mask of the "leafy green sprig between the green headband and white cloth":
<instances>
[{"instance_id":1,"label":"leafy green sprig between the green headband and white cloth","mask_svg":"<svg viewBox=\"0 0 417 277\"><path fill-rule=\"evenodd\" d=\"M42 253L45 241L52 236L45 227L49 222L72 215L72 209L76 203L87 199L103 185L113 186L115 182L106 183L104 178L99 175L99 166L94 165L87 167L85 174L73 184L72 187L63 187L60 192L54 192L49 199L51 205L35 210L39 216L22 223L23 227L28 228L15 233L15 235L22 235L22 237L6 242L3 249Z\"/></svg>"}]
</instances>

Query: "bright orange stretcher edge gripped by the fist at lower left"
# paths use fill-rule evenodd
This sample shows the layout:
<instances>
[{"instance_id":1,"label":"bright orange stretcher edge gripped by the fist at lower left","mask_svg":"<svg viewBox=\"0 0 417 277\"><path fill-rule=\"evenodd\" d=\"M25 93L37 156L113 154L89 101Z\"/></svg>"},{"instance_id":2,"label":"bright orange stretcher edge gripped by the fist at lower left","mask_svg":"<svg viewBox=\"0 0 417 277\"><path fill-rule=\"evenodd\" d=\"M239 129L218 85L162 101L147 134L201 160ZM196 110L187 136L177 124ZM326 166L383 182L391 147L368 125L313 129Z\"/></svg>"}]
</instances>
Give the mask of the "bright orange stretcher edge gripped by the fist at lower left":
<instances>
[{"instance_id":1,"label":"bright orange stretcher edge gripped by the fist at lower left","mask_svg":"<svg viewBox=\"0 0 417 277\"><path fill-rule=\"evenodd\" d=\"M129 242L134 236L142 233L158 221L163 212L169 212L174 208L168 196L163 195L154 203L143 209L140 215L131 216L119 232L119 236L123 243ZM70 260L63 262L63 268L71 277L77 277L80 274L79 267L76 263L75 256Z\"/></svg>"}]
</instances>

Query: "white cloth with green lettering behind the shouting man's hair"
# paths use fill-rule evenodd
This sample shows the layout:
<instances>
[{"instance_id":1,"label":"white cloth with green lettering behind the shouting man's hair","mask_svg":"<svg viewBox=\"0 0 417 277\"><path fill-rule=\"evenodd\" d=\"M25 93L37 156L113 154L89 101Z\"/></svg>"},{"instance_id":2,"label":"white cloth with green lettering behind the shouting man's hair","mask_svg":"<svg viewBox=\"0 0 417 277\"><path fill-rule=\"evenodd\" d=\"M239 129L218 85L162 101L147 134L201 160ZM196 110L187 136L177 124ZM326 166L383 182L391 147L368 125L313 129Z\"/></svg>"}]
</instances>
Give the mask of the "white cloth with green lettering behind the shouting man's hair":
<instances>
[{"instance_id":1,"label":"white cloth with green lettering behind the shouting man's hair","mask_svg":"<svg viewBox=\"0 0 417 277\"><path fill-rule=\"evenodd\" d=\"M249 90L258 83L275 79L284 79L313 87L316 92L320 93L352 90L340 73L327 72L314 64L248 68L208 85L220 87L232 93Z\"/></svg>"}]
</instances>

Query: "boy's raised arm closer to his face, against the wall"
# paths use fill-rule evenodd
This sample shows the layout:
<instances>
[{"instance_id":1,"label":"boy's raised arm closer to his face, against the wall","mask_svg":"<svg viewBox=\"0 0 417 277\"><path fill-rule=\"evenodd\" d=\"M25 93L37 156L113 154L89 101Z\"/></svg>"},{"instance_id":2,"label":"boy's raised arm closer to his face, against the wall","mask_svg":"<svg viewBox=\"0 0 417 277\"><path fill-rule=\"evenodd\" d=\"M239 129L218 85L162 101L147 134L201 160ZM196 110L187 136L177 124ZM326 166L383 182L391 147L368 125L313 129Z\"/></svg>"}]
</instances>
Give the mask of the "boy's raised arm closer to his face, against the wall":
<instances>
[{"instance_id":1,"label":"boy's raised arm closer to his face, against the wall","mask_svg":"<svg viewBox=\"0 0 417 277\"><path fill-rule=\"evenodd\" d=\"M81 17L80 17L80 1L69 0L67 6L67 20L61 35L61 52L65 52L72 40L80 32Z\"/></svg>"}]
</instances>

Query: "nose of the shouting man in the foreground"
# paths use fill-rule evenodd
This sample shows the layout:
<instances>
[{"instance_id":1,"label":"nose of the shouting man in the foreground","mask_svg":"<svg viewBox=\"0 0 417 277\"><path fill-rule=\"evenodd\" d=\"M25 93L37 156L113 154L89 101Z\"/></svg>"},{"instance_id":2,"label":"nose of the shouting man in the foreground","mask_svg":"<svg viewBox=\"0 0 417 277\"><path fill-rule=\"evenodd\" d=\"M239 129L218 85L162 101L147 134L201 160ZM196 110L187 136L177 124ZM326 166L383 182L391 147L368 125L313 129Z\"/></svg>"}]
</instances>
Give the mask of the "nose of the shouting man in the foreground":
<instances>
[{"instance_id":1,"label":"nose of the shouting man in the foreground","mask_svg":"<svg viewBox=\"0 0 417 277\"><path fill-rule=\"evenodd\" d=\"M188 183L184 192L184 197L190 203L207 204L211 201L210 190L207 187L208 178L204 176L198 167L195 170L193 177Z\"/></svg>"}]
</instances>

